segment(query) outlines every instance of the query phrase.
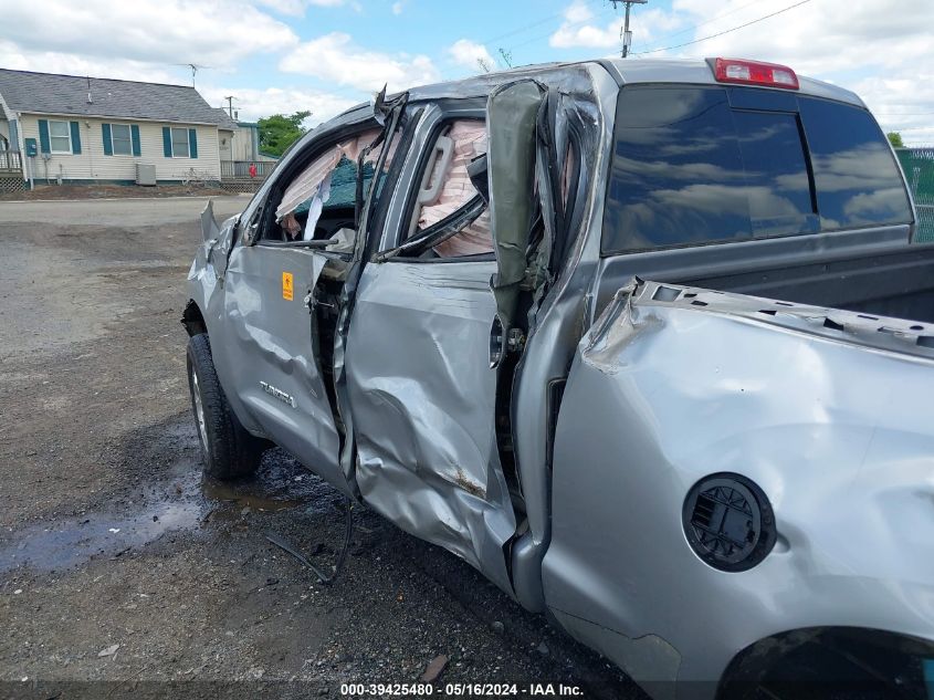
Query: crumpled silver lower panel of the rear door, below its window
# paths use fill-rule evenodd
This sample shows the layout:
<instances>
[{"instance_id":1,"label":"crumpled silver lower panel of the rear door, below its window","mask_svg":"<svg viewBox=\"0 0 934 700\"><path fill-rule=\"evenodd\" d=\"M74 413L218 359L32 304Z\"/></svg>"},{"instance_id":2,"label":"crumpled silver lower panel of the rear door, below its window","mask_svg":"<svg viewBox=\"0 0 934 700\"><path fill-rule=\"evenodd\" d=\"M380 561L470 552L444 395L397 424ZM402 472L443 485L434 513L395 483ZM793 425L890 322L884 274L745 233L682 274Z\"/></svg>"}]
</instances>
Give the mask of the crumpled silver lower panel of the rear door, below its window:
<instances>
[{"instance_id":1,"label":"crumpled silver lower panel of the rear door, below its window","mask_svg":"<svg viewBox=\"0 0 934 700\"><path fill-rule=\"evenodd\" d=\"M510 591L516 523L496 449L492 261L372 265L347 342L364 501ZM378 290L378 295L376 293Z\"/></svg>"}]
</instances>

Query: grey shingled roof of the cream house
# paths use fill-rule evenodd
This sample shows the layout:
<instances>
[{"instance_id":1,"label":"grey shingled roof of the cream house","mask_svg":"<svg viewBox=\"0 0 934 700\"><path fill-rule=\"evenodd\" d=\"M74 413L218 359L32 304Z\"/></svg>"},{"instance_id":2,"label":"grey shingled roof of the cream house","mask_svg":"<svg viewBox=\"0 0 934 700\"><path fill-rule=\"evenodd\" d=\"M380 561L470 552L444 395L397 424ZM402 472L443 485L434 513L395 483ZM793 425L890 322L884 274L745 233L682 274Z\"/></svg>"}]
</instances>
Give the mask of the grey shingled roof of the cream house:
<instances>
[{"instance_id":1,"label":"grey shingled roof of the cream house","mask_svg":"<svg viewBox=\"0 0 934 700\"><path fill-rule=\"evenodd\" d=\"M88 90L90 84L90 90ZM87 102L87 93L91 102ZM234 128L193 87L0 69L0 96L13 112L109 116Z\"/></svg>"}]
</instances>

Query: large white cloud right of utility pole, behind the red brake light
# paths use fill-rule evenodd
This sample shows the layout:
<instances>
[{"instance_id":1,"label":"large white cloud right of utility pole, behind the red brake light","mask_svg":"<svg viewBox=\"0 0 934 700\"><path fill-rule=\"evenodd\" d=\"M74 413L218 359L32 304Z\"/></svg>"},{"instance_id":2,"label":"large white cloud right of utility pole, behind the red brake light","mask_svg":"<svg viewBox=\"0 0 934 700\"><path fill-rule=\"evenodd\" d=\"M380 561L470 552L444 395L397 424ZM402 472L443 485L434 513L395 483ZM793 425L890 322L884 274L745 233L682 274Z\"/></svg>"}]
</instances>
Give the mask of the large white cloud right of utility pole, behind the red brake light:
<instances>
[{"instance_id":1,"label":"large white cloud right of utility pole, behind the red brake light","mask_svg":"<svg viewBox=\"0 0 934 700\"><path fill-rule=\"evenodd\" d=\"M745 0L730 0L730 17L699 28L682 43L709 36L788 7L767 0L738 9ZM709 17L703 0L675 0L675 9L694 21ZM789 10L752 27L680 50L682 55L733 55L785 63L797 72L853 90L886 130L910 129L906 143L934 142L934 70L931 55L931 0L820 0ZM905 115L905 116L893 116Z\"/></svg>"}]
</instances>

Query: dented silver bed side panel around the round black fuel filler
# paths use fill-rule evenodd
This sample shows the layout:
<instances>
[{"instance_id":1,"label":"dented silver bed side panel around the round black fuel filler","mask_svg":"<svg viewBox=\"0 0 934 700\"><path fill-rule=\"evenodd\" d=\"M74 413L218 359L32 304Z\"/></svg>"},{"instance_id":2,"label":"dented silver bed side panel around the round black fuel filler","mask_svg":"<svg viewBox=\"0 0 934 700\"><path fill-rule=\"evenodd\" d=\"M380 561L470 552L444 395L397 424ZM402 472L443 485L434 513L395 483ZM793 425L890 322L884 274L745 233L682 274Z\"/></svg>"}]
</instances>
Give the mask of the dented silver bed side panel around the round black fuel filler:
<instances>
[{"instance_id":1,"label":"dented silver bed side panel around the round black fuel filler","mask_svg":"<svg viewBox=\"0 0 934 700\"><path fill-rule=\"evenodd\" d=\"M715 680L748 645L805 627L934 639L934 362L826 315L902 323L651 282L617 295L562 405L549 607L664 639L680 680ZM688 491L721 471L758 483L778 526L741 574L701 562L682 527ZM637 680L669 672L576 634Z\"/></svg>"}]
</instances>

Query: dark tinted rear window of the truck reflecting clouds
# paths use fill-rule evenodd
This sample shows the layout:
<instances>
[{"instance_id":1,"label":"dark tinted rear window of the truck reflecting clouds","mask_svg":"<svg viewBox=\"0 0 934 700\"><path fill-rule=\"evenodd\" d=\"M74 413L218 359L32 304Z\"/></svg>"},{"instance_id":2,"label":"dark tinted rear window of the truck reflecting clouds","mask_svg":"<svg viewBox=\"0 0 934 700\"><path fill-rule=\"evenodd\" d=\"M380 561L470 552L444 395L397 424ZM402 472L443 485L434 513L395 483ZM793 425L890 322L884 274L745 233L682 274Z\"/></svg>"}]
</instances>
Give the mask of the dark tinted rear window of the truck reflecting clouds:
<instances>
[{"instance_id":1,"label":"dark tinted rear window of the truck reflecting clouds","mask_svg":"<svg viewBox=\"0 0 934 700\"><path fill-rule=\"evenodd\" d=\"M790 95L781 104L793 111L741 109L763 93L732 90L622 91L604 252L911 220L895 161L868 113Z\"/></svg>"}]
</instances>

